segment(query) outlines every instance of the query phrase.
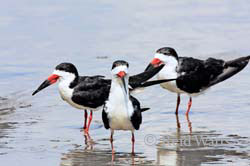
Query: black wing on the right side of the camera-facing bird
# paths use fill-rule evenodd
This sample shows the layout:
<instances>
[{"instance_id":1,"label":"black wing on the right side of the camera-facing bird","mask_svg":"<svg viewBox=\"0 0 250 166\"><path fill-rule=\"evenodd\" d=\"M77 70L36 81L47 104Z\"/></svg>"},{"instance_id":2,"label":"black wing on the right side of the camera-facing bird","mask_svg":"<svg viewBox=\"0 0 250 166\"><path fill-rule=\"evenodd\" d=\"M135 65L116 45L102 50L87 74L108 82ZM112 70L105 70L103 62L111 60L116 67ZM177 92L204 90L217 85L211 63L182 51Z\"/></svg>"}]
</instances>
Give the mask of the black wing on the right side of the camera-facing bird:
<instances>
[{"instance_id":1,"label":"black wing on the right side of the camera-facing bird","mask_svg":"<svg viewBox=\"0 0 250 166\"><path fill-rule=\"evenodd\" d=\"M140 125L142 123L142 115L141 113L143 111L146 111L148 110L149 108L143 108L141 109L141 106L140 106L140 102L133 96L130 95L130 100L133 104L133 107L134 107L134 112L133 112L133 115L131 116L131 122L133 124L133 127L136 129L136 130L139 130L140 128Z\"/></svg>"}]
</instances>

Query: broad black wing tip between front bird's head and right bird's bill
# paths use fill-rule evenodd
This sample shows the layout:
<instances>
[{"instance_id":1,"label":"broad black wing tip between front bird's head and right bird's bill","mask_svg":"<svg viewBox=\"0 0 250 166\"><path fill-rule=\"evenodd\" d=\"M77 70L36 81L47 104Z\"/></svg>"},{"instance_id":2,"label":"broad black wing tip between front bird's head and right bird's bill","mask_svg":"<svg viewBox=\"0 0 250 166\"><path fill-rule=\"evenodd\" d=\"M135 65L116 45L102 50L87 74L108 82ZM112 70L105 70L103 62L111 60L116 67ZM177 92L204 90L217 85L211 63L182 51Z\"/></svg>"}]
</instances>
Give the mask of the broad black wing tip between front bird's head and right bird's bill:
<instances>
[{"instance_id":1,"label":"broad black wing tip between front bird's head and right bird's bill","mask_svg":"<svg viewBox=\"0 0 250 166\"><path fill-rule=\"evenodd\" d=\"M164 65L160 65L152 70L147 70L144 71L142 73L133 75L129 77L129 85L132 88L137 88L140 87L141 84L143 82L146 82L147 80L149 80L150 78L152 78L154 75L156 75L162 68L164 67Z\"/></svg>"}]
</instances>

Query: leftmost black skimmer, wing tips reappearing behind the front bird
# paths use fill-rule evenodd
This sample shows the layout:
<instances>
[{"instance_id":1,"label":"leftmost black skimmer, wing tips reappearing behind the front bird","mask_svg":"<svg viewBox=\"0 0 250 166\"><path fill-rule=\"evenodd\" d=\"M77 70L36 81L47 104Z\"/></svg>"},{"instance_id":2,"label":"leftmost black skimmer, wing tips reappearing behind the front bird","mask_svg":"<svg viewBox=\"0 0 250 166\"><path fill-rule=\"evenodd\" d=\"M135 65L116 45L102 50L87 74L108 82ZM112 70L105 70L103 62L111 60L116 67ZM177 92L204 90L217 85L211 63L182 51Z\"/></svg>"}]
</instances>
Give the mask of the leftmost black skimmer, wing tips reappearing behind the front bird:
<instances>
[{"instance_id":1,"label":"leftmost black skimmer, wing tips reappearing behind the front bird","mask_svg":"<svg viewBox=\"0 0 250 166\"><path fill-rule=\"evenodd\" d=\"M159 72L163 66L159 66L149 72L143 72L129 78L130 88L136 89L154 84L154 81L146 82ZM102 108L109 95L110 79L104 76L79 76L76 67L71 63L61 63L56 66L53 74L45 80L32 95L59 81L59 93L63 100L77 109L85 110L84 131L88 132L92 121L93 111ZM146 83L145 83L146 82ZM145 83L145 84L142 84ZM87 125L87 110L90 116Z\"/></svg>"}]
</instances>

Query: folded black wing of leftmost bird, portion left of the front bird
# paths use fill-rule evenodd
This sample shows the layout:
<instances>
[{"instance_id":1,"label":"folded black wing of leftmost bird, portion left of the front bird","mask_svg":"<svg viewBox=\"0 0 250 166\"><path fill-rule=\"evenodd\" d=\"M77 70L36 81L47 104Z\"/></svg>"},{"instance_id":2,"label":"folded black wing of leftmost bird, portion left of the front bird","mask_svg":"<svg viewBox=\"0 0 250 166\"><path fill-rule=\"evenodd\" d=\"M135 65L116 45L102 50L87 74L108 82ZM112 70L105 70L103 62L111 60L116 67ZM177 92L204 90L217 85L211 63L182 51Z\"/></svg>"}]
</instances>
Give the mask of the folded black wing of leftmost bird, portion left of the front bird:
<instances>
[{"instance_id":1,"label":"folded black wing of leftmost bird, portion left of the front bird","mask_svg":"<svg viewBox=\"0 0 250 166\"><path fill-rule=\"evenodd\" d=\"M97 108L108 99L110 80L100 76L80 77L74 88L72 101L90 108Z\"/></svg>"}]
</instances>

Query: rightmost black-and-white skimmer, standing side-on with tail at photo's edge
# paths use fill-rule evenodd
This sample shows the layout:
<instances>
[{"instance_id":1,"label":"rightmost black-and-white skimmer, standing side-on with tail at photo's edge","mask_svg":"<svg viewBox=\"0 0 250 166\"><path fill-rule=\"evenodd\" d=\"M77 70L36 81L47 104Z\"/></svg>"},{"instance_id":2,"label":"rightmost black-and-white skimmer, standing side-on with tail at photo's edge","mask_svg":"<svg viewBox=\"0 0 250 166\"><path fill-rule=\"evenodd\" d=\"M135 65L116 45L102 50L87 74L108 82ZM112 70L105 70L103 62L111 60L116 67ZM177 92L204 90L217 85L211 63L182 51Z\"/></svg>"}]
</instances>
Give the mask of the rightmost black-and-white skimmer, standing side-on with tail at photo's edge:
<instances>
[{"instance_id":1,"label":"rightmost black-and-white skimmer, standing side-on with tail at photo's edge","mask_svg":"<svg viewBox=\"0 0 250 166\"><path fill-rule=\"evenodd\" d=\"M177 78L176 81L162 83L161 86L177 93L176 114L180 104L180 94L189 95L186 115L192 105L192 96L199 95L209 87L222 82L240 72L248 64L250 56L240 57L230 61L208 58L206 60L192 57L178 57L176 51L170 47L163 47L156 51L154 59L146 68L165 64L157 74L158 79Z\"/></svg>"}]
</instances>

